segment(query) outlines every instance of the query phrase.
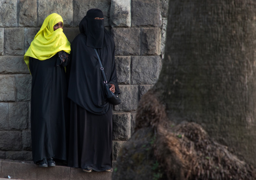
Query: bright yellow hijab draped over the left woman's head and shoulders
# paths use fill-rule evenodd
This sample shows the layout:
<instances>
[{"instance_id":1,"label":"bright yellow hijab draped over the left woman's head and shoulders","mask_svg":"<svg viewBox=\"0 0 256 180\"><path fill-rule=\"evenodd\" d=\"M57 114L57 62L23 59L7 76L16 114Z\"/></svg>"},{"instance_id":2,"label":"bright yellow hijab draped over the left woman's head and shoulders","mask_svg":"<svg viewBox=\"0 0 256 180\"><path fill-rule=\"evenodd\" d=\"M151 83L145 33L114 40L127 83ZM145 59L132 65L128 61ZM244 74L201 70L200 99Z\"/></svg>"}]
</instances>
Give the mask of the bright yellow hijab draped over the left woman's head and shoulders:
<instances>
[{"instance_id":1,"label":"bright yellow hijab draped over the left woman's head and shoulders","mask_svg":"<svg viewBox=\"0 0 256 180\"><path fill-rule=\"evenodd\" d=\"M53 30L53 26L63 20L61 16L53 13L45 18L43 25L31 42L28 51L24 55L24 61L29 69L29 57L39 60L46 60L54 56L59 51L70 54L70 42L61 28Z\"/></svg>"}]
</instances>

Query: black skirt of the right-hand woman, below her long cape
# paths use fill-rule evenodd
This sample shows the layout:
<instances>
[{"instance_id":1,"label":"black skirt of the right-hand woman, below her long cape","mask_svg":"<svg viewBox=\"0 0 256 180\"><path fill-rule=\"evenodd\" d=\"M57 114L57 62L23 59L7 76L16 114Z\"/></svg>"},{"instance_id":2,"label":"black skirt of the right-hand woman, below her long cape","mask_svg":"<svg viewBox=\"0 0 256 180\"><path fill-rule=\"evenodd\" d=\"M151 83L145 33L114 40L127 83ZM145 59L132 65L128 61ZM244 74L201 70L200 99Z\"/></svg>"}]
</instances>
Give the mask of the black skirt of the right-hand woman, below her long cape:
<instances>
[{"instance_id":1,"label":"black skirt of the right-hand woman, below her long cape","mask_svg":"<svg viewBox=\"0 0 256 180\"><path fill-rule=\"evenodd\" d=\"M112 107L102 115L71 101L69 166L104 171L112 164Z\"/></svg>"}]
</instances>

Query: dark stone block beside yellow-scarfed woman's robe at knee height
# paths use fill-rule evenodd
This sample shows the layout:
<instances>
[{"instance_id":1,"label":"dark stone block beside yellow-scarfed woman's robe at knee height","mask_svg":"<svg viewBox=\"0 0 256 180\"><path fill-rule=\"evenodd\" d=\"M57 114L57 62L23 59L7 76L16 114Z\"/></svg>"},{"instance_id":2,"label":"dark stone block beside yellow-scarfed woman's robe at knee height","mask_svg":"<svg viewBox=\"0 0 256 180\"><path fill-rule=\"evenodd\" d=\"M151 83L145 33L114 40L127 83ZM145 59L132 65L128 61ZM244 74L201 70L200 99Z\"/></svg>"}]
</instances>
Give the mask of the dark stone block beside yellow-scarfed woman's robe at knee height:
<instances>
[{"instance_id":1,"label":"dark stone block beside yellow-scarfed woman's robe at knee height","mask_svg":"<svg viewBox=\"0 0 256 180\"><path fill-rule=\"evenodd\" d=\"M28 128L27 102L9 103L9 128L17 130Z\"/></svg>"}]
</instances>

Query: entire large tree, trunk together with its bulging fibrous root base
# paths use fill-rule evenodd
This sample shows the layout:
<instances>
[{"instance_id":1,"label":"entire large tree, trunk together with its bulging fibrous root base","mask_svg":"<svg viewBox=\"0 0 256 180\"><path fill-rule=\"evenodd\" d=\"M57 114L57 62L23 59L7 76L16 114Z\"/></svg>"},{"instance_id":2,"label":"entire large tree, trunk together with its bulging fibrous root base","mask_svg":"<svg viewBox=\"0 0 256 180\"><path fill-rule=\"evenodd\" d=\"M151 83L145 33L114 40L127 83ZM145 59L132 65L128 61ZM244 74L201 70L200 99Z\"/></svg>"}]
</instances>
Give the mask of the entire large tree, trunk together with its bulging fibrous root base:
<instances>
[{"instance_id":1,"label":"entire large tree, trunk together with its bulging fibrous root base","mask_svg":"<svg viewBox=\"0 0 256 180\"><path fill-rule=\"evenodd\" d=\"M256 1L170 0L163 68L113 179L256 179L255 21Z\"/></svg>"}]
</instances>

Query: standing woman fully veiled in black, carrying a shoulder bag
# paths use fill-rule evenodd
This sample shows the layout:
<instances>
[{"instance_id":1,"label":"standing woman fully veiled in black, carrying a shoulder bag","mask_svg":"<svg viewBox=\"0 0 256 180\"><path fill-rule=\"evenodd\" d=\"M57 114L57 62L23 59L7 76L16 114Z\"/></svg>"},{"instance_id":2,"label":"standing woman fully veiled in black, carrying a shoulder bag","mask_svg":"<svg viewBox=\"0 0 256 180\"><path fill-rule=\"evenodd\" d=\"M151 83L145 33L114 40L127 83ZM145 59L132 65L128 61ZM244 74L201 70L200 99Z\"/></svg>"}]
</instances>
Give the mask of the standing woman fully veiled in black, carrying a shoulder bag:
<instances>
[{"instance_id":1,"label":"standing woman fully veiled in black, carrying a shoulder bag","mask_svg":"<svg viewBox=\"0 0 256 180\"><path fill-rule=\"evenodd\" d=\"M68 165L84 171L112 167L112 105L104 92L97 50L112 92L120 93L114 62L114 41L103 26L103 14L91 9L71 44L68 97L71 99Z\"/></svg>"}]
</instances>

